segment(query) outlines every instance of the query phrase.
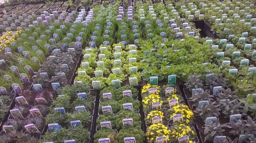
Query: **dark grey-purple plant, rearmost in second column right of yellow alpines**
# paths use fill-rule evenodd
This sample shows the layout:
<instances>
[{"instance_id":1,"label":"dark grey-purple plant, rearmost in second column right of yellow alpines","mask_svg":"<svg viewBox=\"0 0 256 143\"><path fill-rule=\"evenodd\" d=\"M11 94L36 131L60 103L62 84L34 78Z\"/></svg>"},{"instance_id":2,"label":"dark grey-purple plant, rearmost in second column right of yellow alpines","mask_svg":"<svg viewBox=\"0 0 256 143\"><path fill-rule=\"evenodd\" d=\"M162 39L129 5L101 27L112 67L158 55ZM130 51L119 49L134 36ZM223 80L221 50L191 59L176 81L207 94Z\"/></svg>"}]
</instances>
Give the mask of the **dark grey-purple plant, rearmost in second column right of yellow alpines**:
<instances>
[{"instance_id":1,"label":"dark grey-purple plant, rearmost in second column right of yellow alpines","mask_svg":"<svg viewBox=\"0 0 256 143\"><path fill-rule=\"evenodd\" d=\"M216 86L222 86L224 88L228 87L227 81L228 81L228 79L226 77L222 77L222 75L214 75L214 76L206 79L204 88L210 89L211 92L213 92L213 87L216 87Z\"/></svg>"}]
</instances>

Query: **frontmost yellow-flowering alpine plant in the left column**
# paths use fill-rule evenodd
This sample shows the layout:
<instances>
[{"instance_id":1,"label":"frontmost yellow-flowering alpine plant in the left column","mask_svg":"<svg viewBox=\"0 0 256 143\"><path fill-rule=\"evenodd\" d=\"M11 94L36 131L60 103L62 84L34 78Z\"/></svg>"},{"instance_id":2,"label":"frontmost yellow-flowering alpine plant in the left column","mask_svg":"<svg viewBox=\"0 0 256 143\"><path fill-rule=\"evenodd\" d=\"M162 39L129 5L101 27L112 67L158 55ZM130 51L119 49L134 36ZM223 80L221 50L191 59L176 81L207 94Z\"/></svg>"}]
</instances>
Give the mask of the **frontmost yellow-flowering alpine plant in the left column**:
<instances>
[{"instance_id":1,"label":"frontmost yellow-flowering alpine plant in the left column","mask_svg":"<svg viewBox=\"0 0 256 143\"><path fill-rule=\"evenodd\" d=\"M167 141L170 141L171 130L161 123L153 124L148 127L146 136L148 143L155 143L156 138L160 136L166 136Z\"/></svg>"}]
</instances>

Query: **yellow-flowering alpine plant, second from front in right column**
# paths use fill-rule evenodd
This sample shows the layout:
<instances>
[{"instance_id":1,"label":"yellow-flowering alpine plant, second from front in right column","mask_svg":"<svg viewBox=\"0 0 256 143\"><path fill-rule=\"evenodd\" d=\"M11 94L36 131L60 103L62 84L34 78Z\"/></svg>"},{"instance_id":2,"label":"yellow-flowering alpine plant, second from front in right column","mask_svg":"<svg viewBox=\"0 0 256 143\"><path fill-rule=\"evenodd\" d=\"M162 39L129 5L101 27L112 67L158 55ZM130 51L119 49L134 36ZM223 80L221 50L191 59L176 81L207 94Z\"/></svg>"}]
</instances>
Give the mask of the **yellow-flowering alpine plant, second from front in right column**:
<instances>
[{"instance_id":1,"label":"yellow-flowering alpine plant, second from front in right column","mask_svg":"<svg viewBox=\"0 0 256 143\"><path fill-rule=\"evenodd\" d=\"M175 105L173 106L170 110L166 111L166 114L169 118L170 123L173 123L173 116L176 114L182 114L182 118L183 118L183 124L185 125L191 125L193 123L194 120L194 113L192 110L189 109L189 107L187 105L183 105L183 104L179 104L179 105ZM179 124L182 123L182 120L179 120L177 122L175 122L175 124Z\"/></svg>"}]
</instances>

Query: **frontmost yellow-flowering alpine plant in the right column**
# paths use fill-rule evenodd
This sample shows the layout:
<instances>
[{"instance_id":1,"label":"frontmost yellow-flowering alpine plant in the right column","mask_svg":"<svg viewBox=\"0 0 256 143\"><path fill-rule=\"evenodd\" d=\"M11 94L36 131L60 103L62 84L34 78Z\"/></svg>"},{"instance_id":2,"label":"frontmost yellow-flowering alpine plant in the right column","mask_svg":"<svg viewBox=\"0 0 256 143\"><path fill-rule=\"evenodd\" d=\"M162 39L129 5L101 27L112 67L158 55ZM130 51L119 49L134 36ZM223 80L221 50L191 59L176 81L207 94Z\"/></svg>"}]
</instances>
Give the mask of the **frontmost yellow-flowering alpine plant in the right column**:
<instances>
[{"instance_id":1,"label":"frontmost yellow-flowering alpine plant in the right column","mask_svg":"<svg viewBox=\"0 0 256 143\"><path fill-rule=\"evenodd\" d=\"M171 127L171 142L177 142L181 136L189 136L189 143L197 142L196 133L193 127L185 124L179 124Z\"/></svg>"}]
</instances>

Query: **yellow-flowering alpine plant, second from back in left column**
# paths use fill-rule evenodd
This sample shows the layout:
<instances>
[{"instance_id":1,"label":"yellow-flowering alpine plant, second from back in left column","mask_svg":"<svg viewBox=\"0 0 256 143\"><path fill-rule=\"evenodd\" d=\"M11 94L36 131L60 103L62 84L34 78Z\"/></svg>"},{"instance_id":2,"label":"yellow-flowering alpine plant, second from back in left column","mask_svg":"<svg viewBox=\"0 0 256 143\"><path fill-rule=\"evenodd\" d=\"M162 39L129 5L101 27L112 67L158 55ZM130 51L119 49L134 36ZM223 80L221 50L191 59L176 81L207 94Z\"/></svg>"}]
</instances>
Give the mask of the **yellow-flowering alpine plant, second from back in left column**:
<instances>
[{"instance_id":1,"label":"yellow-flowering alpine plant, second from back in left column","mask_svg":"<svg viewBox=\"0 0 256 143\"><path fill-rule=\"evenodd\" d=\"M163 101L159 95L156 94L150 94L143 98L142 100L142 106L144 113L149 113L152 110L152 103L153 102L160 102L161 105L163 104ZM155 110L160 110L160 106L156 107Z\"/></svg>"}]
</instances>

